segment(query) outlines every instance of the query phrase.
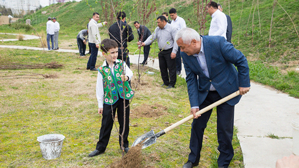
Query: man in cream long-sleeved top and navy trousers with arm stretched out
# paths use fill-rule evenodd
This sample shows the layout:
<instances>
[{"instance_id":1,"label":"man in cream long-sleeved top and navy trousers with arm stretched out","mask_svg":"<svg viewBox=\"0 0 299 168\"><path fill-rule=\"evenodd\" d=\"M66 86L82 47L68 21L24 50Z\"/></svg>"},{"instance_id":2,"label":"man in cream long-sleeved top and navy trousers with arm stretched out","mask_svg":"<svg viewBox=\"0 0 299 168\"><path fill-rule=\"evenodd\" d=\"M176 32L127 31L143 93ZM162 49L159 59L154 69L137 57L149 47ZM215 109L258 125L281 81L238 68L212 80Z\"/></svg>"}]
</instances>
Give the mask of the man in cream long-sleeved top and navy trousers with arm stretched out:
<instances>
[{"instance_id":1,"label":"man in cream long-sleeved top and navy trousers with arm stretched out","mask_svg":"<svg viewBox=\"0 0 299 168\"><path fill-rule=\"evenodd\" d=\"M97 62L97 52L99 51L101 36L99 28L107 24L107 22L97 23L100 19L100 14L94 12L92 19L88 23L88 40L91 48L91 54L89 56L86 69L91 71L97 71L95 63Z\"/></svg>"}]
</instances>

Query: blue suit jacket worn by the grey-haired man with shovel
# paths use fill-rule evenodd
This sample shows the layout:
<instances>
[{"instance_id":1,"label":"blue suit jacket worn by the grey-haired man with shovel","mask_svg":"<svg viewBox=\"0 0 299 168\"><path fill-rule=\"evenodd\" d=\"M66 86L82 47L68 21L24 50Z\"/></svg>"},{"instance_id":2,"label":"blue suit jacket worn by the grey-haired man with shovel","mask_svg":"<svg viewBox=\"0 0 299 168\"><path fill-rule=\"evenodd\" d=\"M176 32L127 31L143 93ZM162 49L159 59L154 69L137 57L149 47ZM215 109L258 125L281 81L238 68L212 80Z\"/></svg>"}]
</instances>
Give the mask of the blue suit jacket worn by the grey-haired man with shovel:
<instances>
[{"instance_id":1,"label":"blue suit jacket worn by the grey-haired man with shovel","mask_svg":"<svg viewBox=\"0 0 299 168\"><path fill-rule=\"evenodd\" d=\"M181 52L191 107L202 104L211 83L222 98L239 90L239 87L250 87L248 63L241 51L235 49L222 36L202 36L202 41L209 78L202 71L195 56ZM241 95L227 103L234 106L240 98Z\"/></svg>"}]
</instances>

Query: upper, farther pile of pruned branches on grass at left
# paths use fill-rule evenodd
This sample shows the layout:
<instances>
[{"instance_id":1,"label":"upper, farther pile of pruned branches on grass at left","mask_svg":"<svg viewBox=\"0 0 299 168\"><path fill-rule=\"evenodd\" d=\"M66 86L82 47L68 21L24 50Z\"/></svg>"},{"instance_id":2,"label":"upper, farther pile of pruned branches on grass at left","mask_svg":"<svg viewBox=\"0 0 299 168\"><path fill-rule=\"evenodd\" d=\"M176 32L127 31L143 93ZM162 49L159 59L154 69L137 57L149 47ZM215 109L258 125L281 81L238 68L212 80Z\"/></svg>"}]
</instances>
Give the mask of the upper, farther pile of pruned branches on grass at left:
<instances>
[{"instance_id":1,"label":"upper, farther pile of pruned branches on grass at left","mask_svg":"<svg viewBox=\"0 0 299 168\"><path fill-rule=\"evenodd\" d=\"M57 62L44 63L44 64L34 64L34 63L10 63L0 65L0 69L41 69L41 68L60 68L63 67L62 64Z\"/></svg>"}]
</instances>

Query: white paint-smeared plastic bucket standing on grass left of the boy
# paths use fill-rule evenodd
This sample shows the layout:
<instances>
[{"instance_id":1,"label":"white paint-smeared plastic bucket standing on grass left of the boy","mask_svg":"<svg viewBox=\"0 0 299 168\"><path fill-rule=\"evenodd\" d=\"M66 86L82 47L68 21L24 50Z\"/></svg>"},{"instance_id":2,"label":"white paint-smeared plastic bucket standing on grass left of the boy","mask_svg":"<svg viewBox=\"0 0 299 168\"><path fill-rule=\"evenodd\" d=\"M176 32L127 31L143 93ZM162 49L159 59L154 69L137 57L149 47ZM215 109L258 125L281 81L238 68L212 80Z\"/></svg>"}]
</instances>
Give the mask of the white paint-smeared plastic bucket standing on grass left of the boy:
<instances>
[{"instance_id":1,"label":"white paint-smeared plastic bucket standing on grass left of the boy","mask_svg":"<svg viewBox=\"0 0 299 168\"><path fill-rule=\"evenodd\" d=\"M37 137L42 157L47 160L60 157L64 138L65 136L61 134L47 134Z\"/></svg>"}]
</instances>

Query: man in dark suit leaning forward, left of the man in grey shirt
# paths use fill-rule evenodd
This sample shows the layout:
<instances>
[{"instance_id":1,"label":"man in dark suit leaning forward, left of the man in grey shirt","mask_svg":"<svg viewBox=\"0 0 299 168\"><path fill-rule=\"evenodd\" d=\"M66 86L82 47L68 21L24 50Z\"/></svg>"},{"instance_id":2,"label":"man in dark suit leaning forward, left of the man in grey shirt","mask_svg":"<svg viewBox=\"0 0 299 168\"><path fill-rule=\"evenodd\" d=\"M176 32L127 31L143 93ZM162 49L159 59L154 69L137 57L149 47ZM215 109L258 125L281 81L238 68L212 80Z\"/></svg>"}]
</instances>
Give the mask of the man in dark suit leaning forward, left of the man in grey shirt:
<instances>
[{"instance_id":1,"label":"man in dark suit leaning forward, left of the man in grey shirt","mask_svg":"<svg viewBox=\"0 0 299 168\"><path fill-rule=\"evenodd\" d=\"M141 42L144 42L152 33L146 26L140 25L138 21L134 22L134 26L137 29L137 33L139 36L137 45L140 45ZM147 64L147 58L149 56L149 49L150 49L150 45L146 45L143 47L144 59L143 59L143 62L140 64L142 64L142 65Z\"/></svg>"}]
</instances>

